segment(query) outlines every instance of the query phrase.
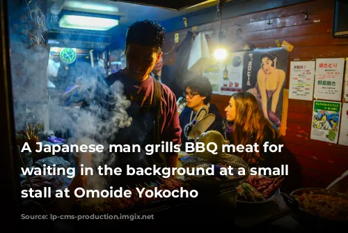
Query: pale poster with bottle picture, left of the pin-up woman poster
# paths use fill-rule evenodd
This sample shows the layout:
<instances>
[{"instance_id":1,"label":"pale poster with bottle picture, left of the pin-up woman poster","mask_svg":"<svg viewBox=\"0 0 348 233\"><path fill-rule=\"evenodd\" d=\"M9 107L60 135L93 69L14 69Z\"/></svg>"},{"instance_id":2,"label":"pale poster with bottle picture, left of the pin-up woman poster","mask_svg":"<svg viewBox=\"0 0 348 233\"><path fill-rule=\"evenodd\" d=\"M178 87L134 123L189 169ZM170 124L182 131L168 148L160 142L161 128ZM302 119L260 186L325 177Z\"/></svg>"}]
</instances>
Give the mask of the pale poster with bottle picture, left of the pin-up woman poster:
<instances>
[{"instance_id":1,"label":"pale poster with bottle picture, left of the pin-up woman poster","mask_svg":"<svg viewBox=\"0 0 348 233\"><path fill-rule=\"evenodd\" d=\"M231 96L242 91L243 52L228 54L226 62L221 62L219 88L221 95Z\"/></svg>"}]
</instances>

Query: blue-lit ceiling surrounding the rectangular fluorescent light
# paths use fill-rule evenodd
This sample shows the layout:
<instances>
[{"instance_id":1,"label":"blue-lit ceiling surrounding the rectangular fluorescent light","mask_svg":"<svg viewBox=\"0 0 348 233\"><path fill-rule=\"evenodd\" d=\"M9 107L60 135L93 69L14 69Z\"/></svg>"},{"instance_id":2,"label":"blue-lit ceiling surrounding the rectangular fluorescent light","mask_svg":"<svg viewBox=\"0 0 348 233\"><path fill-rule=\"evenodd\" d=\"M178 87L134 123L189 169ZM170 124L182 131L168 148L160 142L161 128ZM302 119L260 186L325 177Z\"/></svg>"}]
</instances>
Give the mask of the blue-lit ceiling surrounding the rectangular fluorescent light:
<instances>
[{"instance_id":1,"label":"blue-lit ceiling surrounding the rectangular fluorescent light","mask_svg":"<svg viewBox=\"0 0 348 233\"><path fill-rule=\"evenodd\" d=\"M127 27L137 20L163 22L164 20L174 17L187 15L193 11L203 10L210 6L216 6L219 2L216 0L155 0L152 2L157 2L156 6L160 6L155 7L145 6L143 5L144 1L141 0L136 1L137 3L114 0L48 0L48 13L50 17L49 43L55 44L54 46L71 46L102 50L111 43L111 40L116 42L120 41L120 44L124 43L122 40L125 38ZM156 3L149 4L153 5ZM164 8L165 6L166 8ZM168 8L175 8L175 10L170 10ZM179 8L184 9L177 10ZM61 29L58 26L58 20L60 20L63 16L63 12L66 10L77 11L79 13L112 15L113 17L117 16L119 17L118 26L104 32Z\"/></svg>"}]
</instances>

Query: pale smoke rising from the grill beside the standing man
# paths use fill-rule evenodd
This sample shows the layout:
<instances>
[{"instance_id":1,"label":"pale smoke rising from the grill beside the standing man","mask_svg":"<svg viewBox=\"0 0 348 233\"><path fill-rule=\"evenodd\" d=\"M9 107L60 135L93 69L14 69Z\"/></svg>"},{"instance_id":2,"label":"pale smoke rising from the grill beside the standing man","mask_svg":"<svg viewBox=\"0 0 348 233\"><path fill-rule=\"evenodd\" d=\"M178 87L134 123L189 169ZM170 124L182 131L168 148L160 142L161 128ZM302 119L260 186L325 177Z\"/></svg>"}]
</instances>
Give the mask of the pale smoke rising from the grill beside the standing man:
<instances>
[{"instance_id":1,"label":"pale smoke rising from the grill beside the standing man","mask_svg":"<svg viewBox=\"0 0 348 233\"><path fill-rule=\"evenodd\" d=\"M132 118L127 114L130 101L123 93L123 86L115 82L111 87L102 84L101 79L106 76L102 68L92 68L90 63L77 62L77 66L70 71L70 77L79 78L81 87L77 89L77 100L90 103L88 108L66 107L61 95L54 96L54 89L47 88L47 66L49 52L40 47L24 47L22 43L11 46L11 63L13 74L13 95L15 103L16 130L22 131L26 123L44 122L45 116L49 119L49 128L56 132L68 130L70 138L68 144L102 144L102 153L93 153L92 164L95 168L93 176L88 179L86 189L103 190L109 183L109 177L98 176L96 167L111 165L115 155L109 154L109 143L120 128L130 126ZM19 63L21 66L19 66ZM17 64L17 66L16 66ZM100 105L100 96L112 95L109 103L115 105L113 112L107 112ZM30 114L28 114L30 112ZM34 117L35 116L35 117ZM109 116L102 119L100 116ZM72 154L70 162L78 154ZM83 161L83 160L82 160ZM87 162L86 162L87 163ZM88 163L84 165L88 167ZM94 200L97 201L97 200Z\"/></svg>"}]
</instances>

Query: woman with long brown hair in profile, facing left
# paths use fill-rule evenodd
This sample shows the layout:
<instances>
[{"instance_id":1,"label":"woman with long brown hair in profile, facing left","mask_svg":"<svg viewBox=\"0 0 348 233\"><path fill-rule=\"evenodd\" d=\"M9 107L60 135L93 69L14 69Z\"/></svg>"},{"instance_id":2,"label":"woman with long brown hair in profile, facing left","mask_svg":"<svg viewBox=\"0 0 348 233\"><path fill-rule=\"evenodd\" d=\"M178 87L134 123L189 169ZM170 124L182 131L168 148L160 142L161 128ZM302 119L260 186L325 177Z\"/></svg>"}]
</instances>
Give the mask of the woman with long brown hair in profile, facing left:
<instances>
[{"instance_id":1,"label":"woman with long brown hair in profile, facing left","mask_svg":"<svg viewBox=\"0 0 348 233\"><path fill-rule=\"evenodd\" d=\"M251 166L268 167L271 153L263 152L264 142L274 144L278 132L264 117L258 100L249 92L234 93L225 109L228 127L226 136L231 144L258 144L258 152L237 153Z\"/></svg>"}]
</instances>

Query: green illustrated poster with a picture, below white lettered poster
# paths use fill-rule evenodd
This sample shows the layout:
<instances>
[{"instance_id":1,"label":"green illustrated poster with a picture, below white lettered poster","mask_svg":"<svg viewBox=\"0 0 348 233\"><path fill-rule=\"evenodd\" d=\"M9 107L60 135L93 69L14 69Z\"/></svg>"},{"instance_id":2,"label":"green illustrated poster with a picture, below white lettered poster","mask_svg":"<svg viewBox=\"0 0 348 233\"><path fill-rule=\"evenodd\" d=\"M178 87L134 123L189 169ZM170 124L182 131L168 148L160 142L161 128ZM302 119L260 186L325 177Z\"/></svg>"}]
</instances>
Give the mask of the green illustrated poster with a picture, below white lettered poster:
<instances>
[{"instance_id":1,"label":"green illustrated poster with a picture, below white lettered poster","mask_svg":"<svg viewBox=\"0 0 348 233\"><path fill-rule=\"evenodd\" d=\"M310 139L337 143L341 103L315 100Z\"/></svg>"}]
</instances>

